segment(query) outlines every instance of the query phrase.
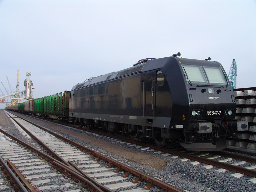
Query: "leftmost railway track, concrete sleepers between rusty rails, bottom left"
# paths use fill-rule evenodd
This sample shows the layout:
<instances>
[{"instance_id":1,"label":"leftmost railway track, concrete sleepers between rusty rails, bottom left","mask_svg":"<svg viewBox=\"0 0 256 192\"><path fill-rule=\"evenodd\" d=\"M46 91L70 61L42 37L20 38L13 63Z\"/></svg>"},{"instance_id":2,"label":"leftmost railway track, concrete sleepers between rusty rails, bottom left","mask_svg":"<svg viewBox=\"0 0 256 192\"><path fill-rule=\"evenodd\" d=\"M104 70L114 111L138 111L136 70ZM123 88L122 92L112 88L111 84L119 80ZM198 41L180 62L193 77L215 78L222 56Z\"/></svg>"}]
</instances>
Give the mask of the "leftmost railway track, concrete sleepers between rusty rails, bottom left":
<instances>
[{"instance_id":1,"label":"leftmost railway track, concrete sleepers between rusty rails, bottom left","mask_svg":"<svg viewBox=\"0 0 256 192\"><path fill-rule=\"evenodd\" d=\"M80 190L73 189L77 186L75 179L64 179L63 174L56 171L56 165L59 164L57 169L66 170L65 172L70 173L71 178L76 176L83 180L83 176L73 172L70 167L63 165L58 160L51 156L41 152L40 150L22 142L14 136L1 130L1 147L0 151L2 159L7 161L8 165L12 169L7 169L5 166L5 173L17 175L20 181L24 183L28 191L35 192L36 190L48 190L51 188L67 189L71 192L77 192ZM11 139L10 139L11 138ZM30 149L30 150L28 150ZM4 166L4 161L1 164ZM26 178L26 179L25 179ZM9 180L10 176L7 175L6 180ZM85 180L85 179L84 179ZM86 181L86 180L85 180ZM10 184L18 183L16 180L11 179ZM60 184L61 183L61 184ZM81 182L82 183L82 182ZM92 183L87 183L89 187L97 188ZM75 187L76 186L76 187ZM80 186L82 188L83 186ZM1 189L7 188L1 187ZM20 186L15 186L16 189L22 189ZM73 190L72 190L73 189ZM25 191L25 190L22 190Z\"/></svg>"}]
</instances>

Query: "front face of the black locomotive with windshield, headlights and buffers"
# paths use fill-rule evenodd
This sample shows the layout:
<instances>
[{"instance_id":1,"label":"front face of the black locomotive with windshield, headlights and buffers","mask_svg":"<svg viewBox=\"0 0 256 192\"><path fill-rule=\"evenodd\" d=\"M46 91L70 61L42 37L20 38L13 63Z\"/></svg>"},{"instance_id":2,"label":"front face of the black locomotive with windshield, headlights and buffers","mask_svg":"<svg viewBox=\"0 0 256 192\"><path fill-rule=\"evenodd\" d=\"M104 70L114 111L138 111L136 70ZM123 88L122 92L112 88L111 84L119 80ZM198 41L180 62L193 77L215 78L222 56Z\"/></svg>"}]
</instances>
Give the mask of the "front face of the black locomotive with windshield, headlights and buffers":
<instances>
[{"instance_id":1,"label":"front face of the black locomotive with windshield, headlights and buffers","mask_svg":"<svg viewBox=\"0 0 256 192\"><path fill-rule=\"evenodd\" d=\"M221 150L233 129L248 127L234 122L236 100L219 62L177 58L189 102L181 145L190 150ZM184 119L184 117L183 117Z\"/></svg>"}]
</instances>

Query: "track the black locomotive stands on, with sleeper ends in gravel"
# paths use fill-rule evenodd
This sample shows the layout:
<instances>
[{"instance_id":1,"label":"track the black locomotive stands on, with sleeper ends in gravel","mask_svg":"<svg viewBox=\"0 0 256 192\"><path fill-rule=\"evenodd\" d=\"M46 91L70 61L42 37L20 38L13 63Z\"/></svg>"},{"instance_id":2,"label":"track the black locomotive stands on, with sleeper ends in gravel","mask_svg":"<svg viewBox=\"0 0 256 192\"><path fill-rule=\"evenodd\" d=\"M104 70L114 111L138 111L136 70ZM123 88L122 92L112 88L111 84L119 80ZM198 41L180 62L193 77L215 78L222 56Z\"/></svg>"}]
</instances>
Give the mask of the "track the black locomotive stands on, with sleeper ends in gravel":
<instances>
[{"instance_id":1,"label":"track the black locomotive stands on, with sleeper ends in gravel","mask_svg":"<svg viewBox=\"0 0 256 192\"><path fill-rule=\"evenodd\" d=\"M77 128L76 126L72 126ZM79 129L79 128L78 128ZM81 129L81 128L80 128ZM99 132L95 130L88 130L92 134L99 134ZM246 156L241 156L233 153L227 153L227 152L195 152L195 151L175 151L170 149L164 149L164 148L158 148L156 146L148 145L145 143L140 142L134 142L127 138L120 138L118 136L113 136L113 134L109 135L107 133L103 133L103 135L110 139L122 139L122 142L126 142L127 144L133 144L137 147L150 147L151 150L157 150L156 153L162 153L163 156L170 156L171 158L179 158L181 161L188 161L193 160L193 162L190 162L193 165L198 165L199 163L205 163L208 164L204 166L205 169L211 169L213 166L219 167L219 169L216 170L218 173L224 173L226 170L230 170L236 173L233 173L233 177L242 177L243 175L248 175L251 177L254 177L250 179L249 181L255 183L256 179L256 159L250 158ZM136 147L134 146L134 147ZM248 165L249 164L249 165Z\"/></svg>"}]
</instances>

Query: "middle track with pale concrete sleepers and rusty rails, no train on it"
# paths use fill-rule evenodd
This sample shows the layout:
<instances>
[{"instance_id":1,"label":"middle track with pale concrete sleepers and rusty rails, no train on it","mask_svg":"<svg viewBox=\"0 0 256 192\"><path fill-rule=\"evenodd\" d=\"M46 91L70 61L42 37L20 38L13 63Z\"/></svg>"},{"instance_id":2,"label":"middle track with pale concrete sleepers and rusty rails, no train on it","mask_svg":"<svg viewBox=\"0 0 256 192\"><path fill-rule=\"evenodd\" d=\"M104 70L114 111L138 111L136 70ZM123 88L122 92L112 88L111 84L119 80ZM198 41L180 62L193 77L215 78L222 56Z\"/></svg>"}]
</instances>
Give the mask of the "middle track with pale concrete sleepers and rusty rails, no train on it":
<instances>
[{"instance_id":1,"label":"middle track with pale concrete sleepers and rusty rails, no train on it","mask_svg":"<svg viewBox=\"0 0 256 192\"><path fill-rule=\"evenodd\" d=\"M36 139L41 146L47 149L49 154L56 159L56 162L52 162L53 166L57 167L59 173L67 174L67 177L69 177L72 170L75 170L76 174L83 175L104 191L120 190L122 188L123 191L139 192L150 189L152 186L158 186L159 190L163 189L163 191L182 191L69 139L55 133L50 134L48 130L39 125L33 123L31 125L31 122L28 123L17 117L12 117L12 119L33 139ZM46 159L49 160L49 157ZM64 171L66 168L69 168L68 171ZM77 181L76 177L73 176L75 181ZM134 189L131 190L131 188Z\"/></svg>"}]
</instances>

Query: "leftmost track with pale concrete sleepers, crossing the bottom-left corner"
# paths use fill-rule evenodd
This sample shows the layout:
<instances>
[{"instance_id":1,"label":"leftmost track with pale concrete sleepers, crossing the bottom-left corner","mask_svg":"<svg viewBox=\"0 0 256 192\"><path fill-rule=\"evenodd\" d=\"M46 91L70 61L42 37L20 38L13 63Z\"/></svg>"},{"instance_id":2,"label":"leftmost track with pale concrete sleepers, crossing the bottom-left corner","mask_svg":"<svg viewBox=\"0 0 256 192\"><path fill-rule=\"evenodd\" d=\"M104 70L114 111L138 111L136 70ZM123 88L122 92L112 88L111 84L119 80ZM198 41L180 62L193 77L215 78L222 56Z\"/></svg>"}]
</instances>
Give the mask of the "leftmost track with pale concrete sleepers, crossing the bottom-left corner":
<instances>
[{"instance_id":1,"label":"leftmost track with pale concrete sleepers, crossing the bottom-left corner","mask_svg":"<svg viewBox=\"0 0 256 192\"><path fill-rule=\"evenodd\" d=\"M40 182L47 183L50 180L52 180L51 179L52 176L58 175L57 173L55 173L56 171L54 171L55 168L57 168L57 170L60 171L59 174L66 173L67 178L71 177L74 182L78 182L80 180L80 182L83 183L84 187L91 189L90 191L95 190L95 191L103 192L103 190L99 189L97 186L95 186L95 184L91 183L83 175L79 174L79 172L77 172L73 167L67 166L59 162L58 160L54 159L48 154L45 154L42 151L26 144L20 139L10 135L9 133L6 133L2 129L0 129L0 132L1 132L1 141L3 141L1 142L2 143L1 153L5 155L2 158L8 162L10 167L13 168L13 171L16 172L16 174L19 176L20 180L23 181L23 183L26 184L26 182L24 182L23 176L25 176L26 179L29 179L29 180L33 178L41 178L41 177L44 178L43 180L39 180L39 182L32 181L31 184L33 186L40 184ZM26 150L23 146L29 149L30 151ZM38 156L41 156L41 159L39 159ZM47 162L51 162L52 164L48 165ZM14 165L15 167L18 167L18 171L15 171ZM32 171L30 171L30 169ZM18 172L21 172L23 176L20 175ZM10 171L9 169L8 173L11 174L12 171ZM34 175L34 173L35 174L39 173L39 174ZM70 185L72 184L70 183L65 184L65 186L70 186ZM31 189L31 186L29 187L29 184L26 184L26 186L28 186L29 191L31 192L33 191L33 189ZM51 187L54 187L54 186L46 186L43 188L40 187L40 190L44 188L45 189L51 188ZM106 191L109 192L111 190L106 190ZM76 190L74 190L74 192L76 192Z\"/></svg>"}]
</instances>

